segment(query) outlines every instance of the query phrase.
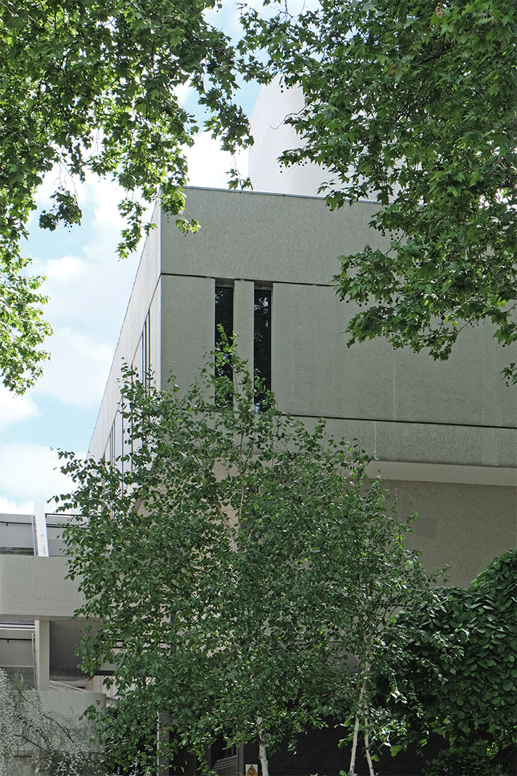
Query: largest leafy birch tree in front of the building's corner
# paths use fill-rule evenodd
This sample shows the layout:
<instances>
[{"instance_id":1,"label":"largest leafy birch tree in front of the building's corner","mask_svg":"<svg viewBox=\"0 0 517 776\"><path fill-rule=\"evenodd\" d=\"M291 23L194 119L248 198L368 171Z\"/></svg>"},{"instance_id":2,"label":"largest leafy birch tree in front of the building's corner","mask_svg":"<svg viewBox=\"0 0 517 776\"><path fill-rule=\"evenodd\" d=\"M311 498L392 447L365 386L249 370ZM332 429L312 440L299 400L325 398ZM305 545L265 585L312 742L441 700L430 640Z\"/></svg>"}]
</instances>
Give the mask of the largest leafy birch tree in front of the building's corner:
<instances>
[{"instance_id":1,"label":"largest leafy birch tree in front of the building's corner","mask_svg":"<svg viewBox=\"0 0 517 776\"><path fill-rule=\"evenodd\" d=\"M282 414L233 350L216 359L183 397L127 372L127 455L61 454L77 484L62 508L85 518L64 533L78 614L102 618L83 667L115 666L105 723L128 762L166 711L172 751L256 740L267 774L268 750L325 716L377 733L380 629L429 584L367 456Z\"/></svg>"}]
</instances>

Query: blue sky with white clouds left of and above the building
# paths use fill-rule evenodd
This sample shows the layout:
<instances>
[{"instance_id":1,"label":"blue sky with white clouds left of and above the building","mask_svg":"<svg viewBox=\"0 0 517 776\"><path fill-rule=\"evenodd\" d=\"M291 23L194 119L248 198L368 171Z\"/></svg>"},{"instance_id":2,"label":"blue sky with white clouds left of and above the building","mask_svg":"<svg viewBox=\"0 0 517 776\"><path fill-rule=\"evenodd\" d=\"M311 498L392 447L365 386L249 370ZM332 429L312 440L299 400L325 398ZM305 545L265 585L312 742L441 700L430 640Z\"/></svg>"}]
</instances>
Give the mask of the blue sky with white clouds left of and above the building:
<instances>
[{"instance_id":1,"label":"blue sky with white clouds left of and above the building","mask_svg":"<svg viewBox=\"0 0 517 776\"><path fill-rule=\"evenodd\" d=\"M227 5L222 14L212 13L217 26L232 35L235 8ZM243 89L241 102L248 113L258 91L256 85ZM189 88L180 99L194 109ZM217 140L201 134L187 155L191 185L227 185L226 171L234 165ZM247 174L245 157L238 166ZM50 173L43 181L40 207L49 203L54 177ZM37 213L29 223L24 253L33 257L33 272L47 277L45 312L54 335L46 343L51 360L33 389L16 397L0 387L0 512L31 513L34 501L68 490L56 450L88 449L141 254L142 246L123 262L116 258L122 221L113 182L88 178L78 186L78 195L80 227L46 232L37 226Z\"/></svg>"}]
</instances>

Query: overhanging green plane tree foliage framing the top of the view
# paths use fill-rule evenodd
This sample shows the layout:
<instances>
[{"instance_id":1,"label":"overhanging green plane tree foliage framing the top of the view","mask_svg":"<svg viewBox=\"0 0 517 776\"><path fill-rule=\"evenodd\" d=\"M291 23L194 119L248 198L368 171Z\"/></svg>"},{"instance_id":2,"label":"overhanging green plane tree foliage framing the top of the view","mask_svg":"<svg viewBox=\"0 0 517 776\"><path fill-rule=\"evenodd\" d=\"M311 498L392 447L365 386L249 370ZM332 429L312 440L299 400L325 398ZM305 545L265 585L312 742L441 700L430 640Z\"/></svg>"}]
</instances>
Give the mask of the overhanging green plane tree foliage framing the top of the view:
<instances>
[{"instance_id":1,"label":"overhanging green plane tree foliage framing the top of the view","mask_svg":"<svg viewBox=\"0 0 517 776\"><path fill-rule=\"evenodd\" d=\"M301 147L287 165L328 171L331 207L380 202L386 235L342 257L343 299L363 306L349 341L384 335L446 359L482 320L508 345L515 322L515 40L506 0L321 2L290 15L267 0L243 10L237 48L206 21L219 0L4 0L0 14L0 373L23 392L50 333L41 278L20 249L43 175L56 168L40 225L81 220L71 178L113 177L125 192L120 255L149 228L144 205L182 210L182 147L196 120L189 85L223 147L250 142L234 104L238 73L300 85L290 117ZM262 53L259 55L259 51ZM238 185L237 178L233 185ZM193 221L179 219L185 229ZM515 378L515 364L505 369Z\"/></svg>"}]
</instances>

